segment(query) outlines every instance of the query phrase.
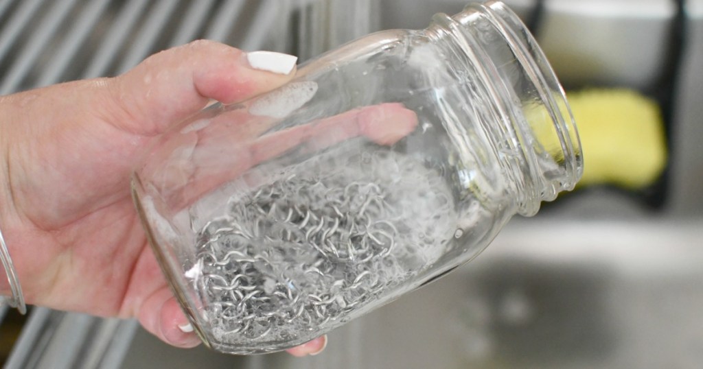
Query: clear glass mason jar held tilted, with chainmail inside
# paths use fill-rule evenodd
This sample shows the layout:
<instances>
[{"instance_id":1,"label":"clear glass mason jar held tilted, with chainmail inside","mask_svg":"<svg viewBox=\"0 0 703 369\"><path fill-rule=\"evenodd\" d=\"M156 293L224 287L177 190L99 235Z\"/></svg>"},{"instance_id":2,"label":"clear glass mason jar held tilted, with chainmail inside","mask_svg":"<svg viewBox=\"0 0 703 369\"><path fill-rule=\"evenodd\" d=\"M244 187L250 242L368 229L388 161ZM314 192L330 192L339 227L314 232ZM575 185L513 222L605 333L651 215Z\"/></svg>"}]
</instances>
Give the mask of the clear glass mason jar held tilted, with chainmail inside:
<instances>
[{"instance_id":1,"label":"clear glass mason jar held tilted, with chainmail inside","mask_svg":"<svg viewBox=\"0 0 703 369\"><path fill-rule=\"evenodd\" d=\"M475 257L573 188L565 95L504 4L435 15L311 60L160 138L133 193L195 331L293 347Z\"/></svg>"}]
</instances>

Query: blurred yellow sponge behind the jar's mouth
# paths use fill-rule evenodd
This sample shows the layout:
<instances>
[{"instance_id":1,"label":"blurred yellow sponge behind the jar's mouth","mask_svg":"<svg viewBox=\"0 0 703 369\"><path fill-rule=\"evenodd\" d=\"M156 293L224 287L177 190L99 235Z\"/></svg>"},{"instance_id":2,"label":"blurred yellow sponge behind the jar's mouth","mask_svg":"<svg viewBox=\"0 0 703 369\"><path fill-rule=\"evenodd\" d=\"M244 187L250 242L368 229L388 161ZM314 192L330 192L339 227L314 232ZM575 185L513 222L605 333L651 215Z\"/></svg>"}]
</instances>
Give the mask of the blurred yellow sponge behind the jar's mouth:
<instances>
[{"instance_id":1,"label":"blurred yellow sponge behind the jar's mouth","mask_svg":"<svg viewBox=\"0 0 703 369\"><path fill-rule=\"evenodd\" d=\"M579 187L613 184L646 187L666 166L659 106L629 89L567 93L581 137L585 164Z\"/></svg>"}]
</instances>

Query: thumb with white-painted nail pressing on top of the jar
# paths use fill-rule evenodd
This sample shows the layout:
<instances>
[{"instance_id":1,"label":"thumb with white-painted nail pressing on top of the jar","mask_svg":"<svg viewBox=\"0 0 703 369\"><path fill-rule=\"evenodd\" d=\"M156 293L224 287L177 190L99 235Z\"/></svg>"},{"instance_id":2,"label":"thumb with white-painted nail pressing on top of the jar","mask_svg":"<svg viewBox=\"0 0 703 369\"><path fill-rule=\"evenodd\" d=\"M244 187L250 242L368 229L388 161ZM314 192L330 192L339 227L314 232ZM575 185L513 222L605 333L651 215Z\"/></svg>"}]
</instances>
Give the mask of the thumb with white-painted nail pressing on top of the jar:
<instances>
[{"instance_id":1,"label":"thumb with white-painted nail pressing on top of the jar","mask_svg":"<svg viewBox=\"0 0 703 369\"><path fill-rule=\"evenodd\" d=\"M136 134L160 134L211 100L244 101L285 84L295 75L295 61L204 40L162 51L114 79L118 105L131 118L114 124Z\"/></svg>"}]
</instances>

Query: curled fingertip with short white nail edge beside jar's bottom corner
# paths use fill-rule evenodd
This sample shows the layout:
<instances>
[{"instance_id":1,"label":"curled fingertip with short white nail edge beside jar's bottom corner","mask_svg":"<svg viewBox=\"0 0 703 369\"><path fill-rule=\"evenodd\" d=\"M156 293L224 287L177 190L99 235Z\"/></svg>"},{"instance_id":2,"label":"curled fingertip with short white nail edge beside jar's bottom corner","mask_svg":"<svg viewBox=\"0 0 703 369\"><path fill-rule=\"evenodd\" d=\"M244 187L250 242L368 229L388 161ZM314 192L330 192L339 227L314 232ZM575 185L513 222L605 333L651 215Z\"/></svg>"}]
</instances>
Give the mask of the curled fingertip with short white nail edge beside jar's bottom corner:
<instances>
[{"instance_id":1,"label":"curled fingertip with short white nail edge beside jar's bottom corner","mask_svg":"<svg viewBox=\"0 0 703 369\"><path fill-rule=\"evenodd\" d=\"M144 329L167 344L183 348L200 344L188 318L167 287L145 300L138 318Z\"/></svg>"}]
</instances>

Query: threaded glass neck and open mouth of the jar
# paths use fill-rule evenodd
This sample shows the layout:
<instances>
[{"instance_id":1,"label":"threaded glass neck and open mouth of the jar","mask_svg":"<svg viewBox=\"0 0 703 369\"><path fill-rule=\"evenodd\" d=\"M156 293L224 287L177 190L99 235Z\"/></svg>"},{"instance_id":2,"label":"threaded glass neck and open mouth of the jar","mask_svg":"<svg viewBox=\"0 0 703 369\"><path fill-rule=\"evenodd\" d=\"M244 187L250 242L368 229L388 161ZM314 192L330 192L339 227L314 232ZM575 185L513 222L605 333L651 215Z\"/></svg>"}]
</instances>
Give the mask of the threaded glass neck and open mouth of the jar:
<instances>
[{"instance_id":1,"label":"threaded glass neck and open mouth of the jar","mask_svg":"<svg viewBox=\"0 0 703 369\"><path fill-rule=\"evenodd\" d=\"M469 4L434 23L451 35L486 93L496 122L484 130L515 183L518 212L536 214L581 178L583 158L566 95L546 56L520 19L500 1Z\"/></svg>"}]
</instances>

